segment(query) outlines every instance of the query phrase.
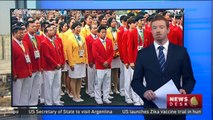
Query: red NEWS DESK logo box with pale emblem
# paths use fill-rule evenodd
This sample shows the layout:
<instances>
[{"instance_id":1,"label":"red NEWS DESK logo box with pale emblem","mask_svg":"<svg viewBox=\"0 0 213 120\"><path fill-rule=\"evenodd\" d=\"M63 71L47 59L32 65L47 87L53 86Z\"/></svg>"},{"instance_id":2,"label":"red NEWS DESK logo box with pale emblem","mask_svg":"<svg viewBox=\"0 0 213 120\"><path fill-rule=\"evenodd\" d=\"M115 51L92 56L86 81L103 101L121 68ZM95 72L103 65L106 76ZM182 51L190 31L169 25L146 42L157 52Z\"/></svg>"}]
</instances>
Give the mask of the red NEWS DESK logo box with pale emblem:
<instances>
[{"instance_id":1,"label":"red NEWS DESK logo box with pale emblem","mask_svg":"<svg viewBox=\"0 0 213 120\"><path fill-rule=\"evenodd\" d=\"M167 108L202 108L202 95L168 94Z\"/></svg>"}]
</instances>

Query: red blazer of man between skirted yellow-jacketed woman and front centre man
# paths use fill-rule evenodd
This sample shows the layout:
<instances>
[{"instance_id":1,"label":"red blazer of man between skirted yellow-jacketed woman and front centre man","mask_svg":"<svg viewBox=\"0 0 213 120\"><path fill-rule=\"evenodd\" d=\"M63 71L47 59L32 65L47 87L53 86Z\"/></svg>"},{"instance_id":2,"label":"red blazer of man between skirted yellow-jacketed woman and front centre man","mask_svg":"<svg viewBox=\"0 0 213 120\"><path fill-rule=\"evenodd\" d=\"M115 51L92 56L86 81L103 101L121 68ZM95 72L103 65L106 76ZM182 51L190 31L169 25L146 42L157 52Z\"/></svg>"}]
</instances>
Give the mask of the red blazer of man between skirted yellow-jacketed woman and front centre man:
<instances>
[{"instance_id":1,"label":"red blazer of man between skirted yellow-jacketed woman and front centre man","mask_svg":"<svg viewBox=\"0 0 213 120\"><path fill-rule=\"evenodd\" d=\"M92 37L91 34L86 37L88 63L93 63L93 64L95 64L95 58L92 53L92 45L94 41L95 39Z\"/></svg>"}]
</instances>

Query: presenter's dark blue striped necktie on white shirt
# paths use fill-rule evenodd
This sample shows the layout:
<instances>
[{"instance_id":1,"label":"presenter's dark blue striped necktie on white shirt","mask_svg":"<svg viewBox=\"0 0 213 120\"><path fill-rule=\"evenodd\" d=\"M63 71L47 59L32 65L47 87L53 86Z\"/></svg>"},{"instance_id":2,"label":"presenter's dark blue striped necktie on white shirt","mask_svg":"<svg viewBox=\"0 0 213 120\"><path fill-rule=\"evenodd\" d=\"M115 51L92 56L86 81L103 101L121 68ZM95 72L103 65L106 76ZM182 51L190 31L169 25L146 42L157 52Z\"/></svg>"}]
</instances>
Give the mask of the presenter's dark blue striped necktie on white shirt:
<instances>
[{"instance_id":1,"label":"presenter's dark blue striped necktie on white shirt","mask_svg":"<svg viewBox=\"0 0 213 120\"><path fill-rule=\"evenodd\" d=\"M158 50L159 50L159 55L158 55L158 61L159 61L159 65L160 65L160 68L161 68L161 71L163 72L164 69L165 69L165 55L163 53L163 49L164 47L163 46L159 46L158 47Z\"/></svg>"}]
</instances>

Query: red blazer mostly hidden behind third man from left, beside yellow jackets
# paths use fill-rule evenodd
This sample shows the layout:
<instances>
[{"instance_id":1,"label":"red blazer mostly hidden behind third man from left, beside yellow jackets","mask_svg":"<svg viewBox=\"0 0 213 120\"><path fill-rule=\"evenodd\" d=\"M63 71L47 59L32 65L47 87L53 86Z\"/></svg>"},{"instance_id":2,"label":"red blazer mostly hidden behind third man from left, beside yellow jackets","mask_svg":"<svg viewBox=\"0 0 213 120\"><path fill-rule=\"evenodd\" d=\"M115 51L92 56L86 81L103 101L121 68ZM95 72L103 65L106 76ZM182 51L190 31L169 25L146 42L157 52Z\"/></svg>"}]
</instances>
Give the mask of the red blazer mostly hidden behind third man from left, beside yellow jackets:
<instances>
[{"instance_id":1,"label":"red blazer mostly hidden behind third man from left, beside yellow jackets","mask_svg":"<svg viewBox=\"0 0 213 120\"><path fill-rule=\"evenodd\" d=\"M64 47L62 44L62 39L58 36L56 36L55 42L58 44L58 53L60 55L60 64L64 65L65 64L65 56L64 56Z\"/></svg>"}]
</instances>

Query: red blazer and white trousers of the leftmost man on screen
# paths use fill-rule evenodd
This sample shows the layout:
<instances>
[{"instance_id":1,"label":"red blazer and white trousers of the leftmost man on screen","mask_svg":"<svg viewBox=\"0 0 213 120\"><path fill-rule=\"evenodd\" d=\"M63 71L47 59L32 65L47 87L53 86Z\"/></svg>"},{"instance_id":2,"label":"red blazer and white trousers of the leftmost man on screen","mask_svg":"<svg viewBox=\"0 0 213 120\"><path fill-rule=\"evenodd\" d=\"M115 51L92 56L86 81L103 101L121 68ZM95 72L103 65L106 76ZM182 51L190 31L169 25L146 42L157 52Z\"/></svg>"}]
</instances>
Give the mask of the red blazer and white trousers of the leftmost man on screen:
<instances>
[{"instance_id":1,"label":"red blazer and white trousers of the leftmost man on screen","mask_svg":"<svg viewBox=\"0 0 213 120\"><path fill-rule=\"evenodd\" d=\"M29 49L24 41L12 40L13 105L28 106L32 86L32 64Z\"/></svg>"}]
</instances>

